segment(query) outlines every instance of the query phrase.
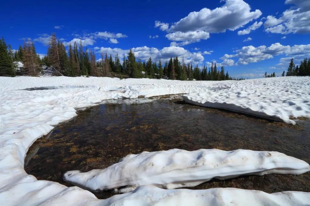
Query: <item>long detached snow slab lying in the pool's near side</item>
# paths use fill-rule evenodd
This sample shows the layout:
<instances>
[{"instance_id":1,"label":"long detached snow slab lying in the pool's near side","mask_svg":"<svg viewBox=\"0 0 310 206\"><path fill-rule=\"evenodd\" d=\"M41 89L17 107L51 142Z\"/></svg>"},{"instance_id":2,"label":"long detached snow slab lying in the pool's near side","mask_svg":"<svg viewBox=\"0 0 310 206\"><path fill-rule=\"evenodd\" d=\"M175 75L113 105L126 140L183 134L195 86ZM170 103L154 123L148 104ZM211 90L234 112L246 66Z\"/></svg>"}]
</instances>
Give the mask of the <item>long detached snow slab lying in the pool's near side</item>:
<instances>
[{"instance_id":1,"label":"long detached snow slab lying in the pool's near side","mask_svg":"<svg viewBox=\"0 0 310 206\"><path fill-rule=\"evenodd\" d=\"M130 154L105 169L84 173L68 171L64 180L91 191L122 187L120 192L128 192L142 185L175 189L194 187L212 178L224 180L245 174L302 174L309 170L308 163L278 152L170 149Z\"/></svg>"}]
</instances>

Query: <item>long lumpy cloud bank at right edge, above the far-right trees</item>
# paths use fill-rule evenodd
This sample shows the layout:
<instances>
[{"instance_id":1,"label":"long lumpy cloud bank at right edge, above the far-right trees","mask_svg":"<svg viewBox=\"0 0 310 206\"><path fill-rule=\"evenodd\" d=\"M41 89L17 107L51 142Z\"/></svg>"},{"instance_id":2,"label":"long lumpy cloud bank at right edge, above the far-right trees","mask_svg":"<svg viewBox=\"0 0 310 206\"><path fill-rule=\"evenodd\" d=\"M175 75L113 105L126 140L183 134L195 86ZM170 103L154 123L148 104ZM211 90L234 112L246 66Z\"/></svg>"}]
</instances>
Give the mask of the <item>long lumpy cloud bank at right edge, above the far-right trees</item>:
<instances>
[{"instance_id":1,"label":"long lumpy cloud bank at right edge, above the far-right trees","mask_svg":"<svg viewBox=\"0 0 310 206\"><path fill-rule=\"evenodd\" d=\"M307 45L294 45L294 46L284 46L280 43L271 44L269 47L265 45L254 47L245 46L241 49L237 49L236 54L225 54L220 59L226 60L231 58L238 58L238 64L247 65L249 63L263 61L265 59L273 58L280 54L285 54L286 56L291 56L288 58L293 58L296 55L305 55L310 51L310 44Z\"/></svg>"}]
</instances>

